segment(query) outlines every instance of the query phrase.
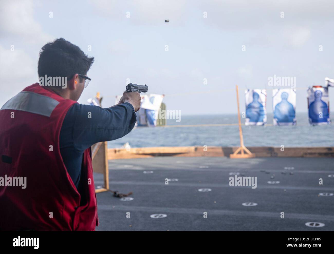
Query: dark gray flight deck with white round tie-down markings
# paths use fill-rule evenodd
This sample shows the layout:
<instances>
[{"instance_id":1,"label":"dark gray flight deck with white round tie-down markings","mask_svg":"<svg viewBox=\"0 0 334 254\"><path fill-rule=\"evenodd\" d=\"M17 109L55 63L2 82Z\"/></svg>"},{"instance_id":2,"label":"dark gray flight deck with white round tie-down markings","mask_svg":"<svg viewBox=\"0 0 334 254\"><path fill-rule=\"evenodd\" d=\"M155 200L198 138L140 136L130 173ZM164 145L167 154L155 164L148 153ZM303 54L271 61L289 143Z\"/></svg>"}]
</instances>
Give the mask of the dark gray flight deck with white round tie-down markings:
<instances>
[{"instance_id":1,"label":"dark gray flight deck with white round tie-down markings","mask_svg":"<svg viewBox=\"0 0 334 254\"><path fill-rule=\"evenodd\" d=\"M112 160L110 189L132 191L133 200L97 193L100 226L96 230L334 230L334 177L328 176L334 174L333 162L331 158L275 157ZM229 186L230 172L256 176L257 188ZM166 178L178 181L166 185ZM95 174L95 185L102 184L102 174ZM211 191L198 191L201 188ZM245 202L258 205L242 205ZM151 218L153 214L167 217ZM308 227L307 222L325 226Z\"/></svg>"}]
</instances>

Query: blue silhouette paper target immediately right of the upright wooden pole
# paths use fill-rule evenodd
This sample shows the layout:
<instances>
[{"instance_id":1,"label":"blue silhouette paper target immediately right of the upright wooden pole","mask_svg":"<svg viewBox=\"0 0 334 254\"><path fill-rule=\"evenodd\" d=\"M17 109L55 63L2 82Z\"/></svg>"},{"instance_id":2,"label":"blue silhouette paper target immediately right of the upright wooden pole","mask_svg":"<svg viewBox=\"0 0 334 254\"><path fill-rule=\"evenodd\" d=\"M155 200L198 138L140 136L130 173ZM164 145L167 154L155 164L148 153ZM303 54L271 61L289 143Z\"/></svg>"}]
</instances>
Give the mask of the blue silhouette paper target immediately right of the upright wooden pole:
<instances>
[{"instance_id":1,"label":"blue silhouette paper target immediately right of the upright wooden pole","mask_svg":"<svg viewBox=\"0 0 334 254\"><path fill-rule=\"evenodd\" d=\"M266 102L266 89L248 89L245 91L245 125L264 125L267 123Z\"/></svg>"}]
</instances>

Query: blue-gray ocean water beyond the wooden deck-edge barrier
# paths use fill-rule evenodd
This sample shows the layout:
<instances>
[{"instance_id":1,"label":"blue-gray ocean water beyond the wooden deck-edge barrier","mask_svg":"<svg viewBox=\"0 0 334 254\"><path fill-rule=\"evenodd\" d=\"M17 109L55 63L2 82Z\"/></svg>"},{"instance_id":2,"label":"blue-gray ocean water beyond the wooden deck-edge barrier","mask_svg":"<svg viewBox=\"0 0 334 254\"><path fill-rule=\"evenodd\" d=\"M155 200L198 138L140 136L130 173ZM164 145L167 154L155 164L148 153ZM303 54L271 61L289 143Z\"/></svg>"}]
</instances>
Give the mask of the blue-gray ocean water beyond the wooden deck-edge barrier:
<instances>
[{"instance_id":1,"label":"blue-gray ocean water beyond the wooden deck-edge barrier","mask_svg":"<svg viewBox=\"0 0 334 254\"><path fill-rule=\"evenodd\" d=\"M334 112L333 112L334 113ZM331 115L333 115L331 113ZM314 147L334 146L334 126L311 126L307 113L297 113L296 126L270 126L272 114L267 114L269 126L242 126L245 146ZM167 125L237 124L235 114L181 116L181 121L167 120ZM241 118L241 123L244 119ZM238 126L208 127L137 127L118 140L109 141L108 147L152 146L238 146Z\"/></svg>"}]
</instances>

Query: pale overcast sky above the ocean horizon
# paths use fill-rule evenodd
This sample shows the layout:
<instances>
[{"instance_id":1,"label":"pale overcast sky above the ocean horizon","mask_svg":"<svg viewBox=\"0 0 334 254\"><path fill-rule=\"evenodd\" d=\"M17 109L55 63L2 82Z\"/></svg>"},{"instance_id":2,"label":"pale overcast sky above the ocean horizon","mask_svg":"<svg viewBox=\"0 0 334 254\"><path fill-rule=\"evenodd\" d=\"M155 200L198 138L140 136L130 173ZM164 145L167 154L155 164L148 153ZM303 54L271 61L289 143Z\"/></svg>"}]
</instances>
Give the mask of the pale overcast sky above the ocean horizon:
<instances>
[{"instance_id":1,"label":"pale overcast sky above the ocean horizon","mask_svg":"<svg viewBox=\"0 0 334 254\"><path fill-rule=\"evenodd\" d=\"M236 84L244 111L244 89L272 89L276 74L296 77L297 112L306 112L306 87L334 78L333 10L321 0L1 0L0 105L38 82L40 48L63 37L95 57L80 103L99 91L112 106L130 79L184 115L236 113Z\"/></svg>"}]
</instances>

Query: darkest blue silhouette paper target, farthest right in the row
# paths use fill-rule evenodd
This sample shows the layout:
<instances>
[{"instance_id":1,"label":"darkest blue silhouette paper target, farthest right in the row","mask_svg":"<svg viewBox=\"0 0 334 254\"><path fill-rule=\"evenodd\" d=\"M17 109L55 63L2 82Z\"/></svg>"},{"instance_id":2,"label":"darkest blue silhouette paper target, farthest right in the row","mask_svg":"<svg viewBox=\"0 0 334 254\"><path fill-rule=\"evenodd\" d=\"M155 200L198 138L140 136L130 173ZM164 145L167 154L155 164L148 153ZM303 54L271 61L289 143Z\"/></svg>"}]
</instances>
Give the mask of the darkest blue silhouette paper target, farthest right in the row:
<instances>
[{"instance_id":1,"label":"darkest blue silhouette paper target, farthest right in the row","mask_svg":"<svg viewBox=\"0 0 334 254\"><path fill-rule=\"evenodd\" d=\"M312 125L329 124L329 97L327 87L309 87L307 89L309 122Z\"/></svg>"}]
</instances>

